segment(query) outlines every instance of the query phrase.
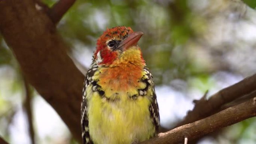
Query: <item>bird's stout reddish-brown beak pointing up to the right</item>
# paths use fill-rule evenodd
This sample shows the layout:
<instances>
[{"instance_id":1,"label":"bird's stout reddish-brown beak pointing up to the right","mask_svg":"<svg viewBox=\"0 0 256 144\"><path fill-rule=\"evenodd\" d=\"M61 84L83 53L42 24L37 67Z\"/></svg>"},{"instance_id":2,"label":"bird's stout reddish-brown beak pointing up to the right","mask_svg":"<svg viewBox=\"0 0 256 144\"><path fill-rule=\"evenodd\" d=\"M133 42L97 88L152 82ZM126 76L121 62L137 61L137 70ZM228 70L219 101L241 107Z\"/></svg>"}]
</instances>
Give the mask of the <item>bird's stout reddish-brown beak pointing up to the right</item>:
<instances>
[{"instance_id":1,"label":"bird's stout reddish-brown beak pointing up to the right","mask_svg":"<svg viewBox=\"0 0 256 144\"><path fill-rule=\"evenodd\" d=\"M137 32L128 34L127 38L122 40L122 42L119 44L117 49L125 51L129 47L137 45L137 42L138 42L138 40L140 40L140 37L142 35L143 35L143 33L141 31L137 31Z\"/></svg>"}]
</instances>

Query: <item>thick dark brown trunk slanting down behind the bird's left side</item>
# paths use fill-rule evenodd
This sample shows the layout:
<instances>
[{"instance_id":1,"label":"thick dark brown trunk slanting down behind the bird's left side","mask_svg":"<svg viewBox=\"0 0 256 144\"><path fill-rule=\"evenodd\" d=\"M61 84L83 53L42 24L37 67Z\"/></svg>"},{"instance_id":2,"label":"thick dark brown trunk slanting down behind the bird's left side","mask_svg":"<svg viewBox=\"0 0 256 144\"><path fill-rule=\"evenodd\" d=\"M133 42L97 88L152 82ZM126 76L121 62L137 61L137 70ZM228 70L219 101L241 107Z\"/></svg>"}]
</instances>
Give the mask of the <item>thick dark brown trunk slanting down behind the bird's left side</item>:
<instances>
[{"instance_id":1,"label":"thick dark brown trunk slanting down behind the bird's left side","mask_svg":"<svg viewBox=\"0 0 256 144\"><path fill-rule=\"evenodd\" d=\"M68 57L67 45L33 0L0 0L0 32L25 78L81 140L80 101L84 76ZM49 119L51 119L49 117Z\"/></svg>"}]
</instances>

